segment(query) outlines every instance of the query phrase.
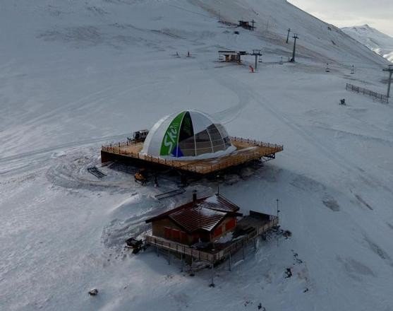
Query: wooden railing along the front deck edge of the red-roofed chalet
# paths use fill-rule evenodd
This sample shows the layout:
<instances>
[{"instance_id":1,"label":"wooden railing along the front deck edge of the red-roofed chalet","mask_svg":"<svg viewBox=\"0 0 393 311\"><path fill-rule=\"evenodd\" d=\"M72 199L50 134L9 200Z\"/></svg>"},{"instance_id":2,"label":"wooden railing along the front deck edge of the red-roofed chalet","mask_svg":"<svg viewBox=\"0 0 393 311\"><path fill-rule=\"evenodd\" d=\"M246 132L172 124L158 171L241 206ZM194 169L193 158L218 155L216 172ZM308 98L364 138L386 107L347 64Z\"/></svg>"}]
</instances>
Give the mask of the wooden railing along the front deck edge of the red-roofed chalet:
<instances>
[{"instance_id":1,"label":"wooden railing along the front deck edge of the red-roofed chalet","mask_svg":"<svg viewBox=\"0 0 393 311\"><path fill-rule=\"evenodd\" d=\"M233 254L234 252L240 250L241 247L250 245L250 243L258 237L258 235L262 235L262 233L265 233L267 230L270 230L274 226L278 225L278 222L279 219L277 216L270 216L270 221L268 223L258 226L258 228L255 228L255 230L248 233L248 235L238 238L238 240L232 242L229 246L215 253L196 250L195 248L188 245L183 245L178 242L173 242L162 237L156 237L155 235L149 234L146 235L146 242L147 244L162 248L164 250L170 250L178 254L193 257L193 259L214 263L219 262L221 259L226 259L229 254Z\"/></svg>"}]
</instances>

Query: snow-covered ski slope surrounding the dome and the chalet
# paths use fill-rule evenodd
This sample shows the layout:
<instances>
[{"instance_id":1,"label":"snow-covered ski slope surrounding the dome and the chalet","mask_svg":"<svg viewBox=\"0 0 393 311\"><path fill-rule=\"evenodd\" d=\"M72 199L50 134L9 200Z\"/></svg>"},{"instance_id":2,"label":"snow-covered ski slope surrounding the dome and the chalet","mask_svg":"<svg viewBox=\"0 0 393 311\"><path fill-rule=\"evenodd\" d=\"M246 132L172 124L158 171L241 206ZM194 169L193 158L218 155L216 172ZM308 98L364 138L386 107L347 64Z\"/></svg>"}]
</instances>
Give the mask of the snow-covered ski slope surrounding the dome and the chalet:
<instances>
[{"instance_id":1,"label":"snow-covered ski slope surrounding the dome and the chalet","mask_svg":"<svg viewBox=\"0 0 393 311\"><path fill-rule=\"evenodd\" d=\"M252 18L255 32L230 24ZM279 64L288 28L296 63ZM392 104L345 90L385 93L387 60L282 0L2 1L0 29L0 310L392 310ZM250 74L253 57L223 64L219 49L263 62ZM102 144L190 107L284 145L219 192L244 214L279 199L292 235L218 266L214 288L208 269L191 277L124 240L217 182L157 201L176 178L143 187L99 164Z\"/></svg>"}]
</instances>

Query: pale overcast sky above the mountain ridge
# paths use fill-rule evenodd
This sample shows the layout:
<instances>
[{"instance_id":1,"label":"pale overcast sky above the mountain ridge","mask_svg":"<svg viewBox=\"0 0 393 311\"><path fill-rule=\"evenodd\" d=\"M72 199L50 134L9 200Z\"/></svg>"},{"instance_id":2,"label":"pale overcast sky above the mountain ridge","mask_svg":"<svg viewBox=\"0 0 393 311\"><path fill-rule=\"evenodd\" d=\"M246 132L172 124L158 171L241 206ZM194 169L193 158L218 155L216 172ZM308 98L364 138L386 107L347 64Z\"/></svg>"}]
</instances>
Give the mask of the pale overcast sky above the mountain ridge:
<instances>
[{"instance_id":1,"label":"pale overcast sky above the mountain ridge","mask_svg":"<svg viewBox=\"0 0 393 311\"><path fill-rule=\"evenodd\" d=\"M393 37L393 0L288 0L338 27L368 24Z\"/></svg>"}]
</instances>

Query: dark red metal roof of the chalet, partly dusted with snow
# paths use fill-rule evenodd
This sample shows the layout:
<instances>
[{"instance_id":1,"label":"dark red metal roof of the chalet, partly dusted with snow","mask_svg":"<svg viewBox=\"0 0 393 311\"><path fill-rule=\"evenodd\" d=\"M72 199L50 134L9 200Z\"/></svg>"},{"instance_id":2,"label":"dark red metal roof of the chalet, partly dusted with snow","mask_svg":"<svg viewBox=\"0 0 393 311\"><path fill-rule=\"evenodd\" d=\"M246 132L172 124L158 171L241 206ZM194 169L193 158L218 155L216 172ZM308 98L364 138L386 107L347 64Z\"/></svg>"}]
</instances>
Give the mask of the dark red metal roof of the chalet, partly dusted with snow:
<instances>
[{"instance_id":1,"label":"dark red metal roof of the chalet, partly dusted with snow","mask_svg":"<svg viewBox=\"0 0 393 311\"><path fill-rule=\"evenodd\" d=\"M238 210L238 206L225 199L224 196L216 194L166 211L158 216L147 219L146 223L169 217L189 233L195 230L211 231L228 214L241 216L241 214L236 213Z\"/></svg>"}]
</instances>

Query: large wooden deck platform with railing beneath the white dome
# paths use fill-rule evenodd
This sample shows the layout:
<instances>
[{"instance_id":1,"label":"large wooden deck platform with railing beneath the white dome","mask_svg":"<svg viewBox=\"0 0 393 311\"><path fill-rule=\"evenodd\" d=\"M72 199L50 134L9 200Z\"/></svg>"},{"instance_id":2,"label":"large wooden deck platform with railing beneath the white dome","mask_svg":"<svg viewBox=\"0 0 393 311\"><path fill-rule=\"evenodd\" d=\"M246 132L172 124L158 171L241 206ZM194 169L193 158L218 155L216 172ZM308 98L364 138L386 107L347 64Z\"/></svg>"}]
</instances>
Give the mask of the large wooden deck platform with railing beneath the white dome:
<instances>
[{"instance_id":1,"label":"large wooden deck platform with railing beneath the white dome","mask_svg":"<svg viewBox=\"0 0 393 311\"><path fill-rule=\"evenodd\" d=\"M101 148L101 161L121 160L135 165L145 165L145 167L155 166L161 168L174 168L183 172L192 172L198 175L207 175L212 172L219 172L227 168L248 163L253 160L274 159L276 153L283 150L283 146L262 143L250 139L231 137L231 143L236 147L236 151L219 158L202 160L167 160L143 155L140 151L143 143L131 143L129 141L114 143Z\"/></svg>"}]
</instances>

